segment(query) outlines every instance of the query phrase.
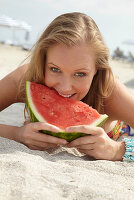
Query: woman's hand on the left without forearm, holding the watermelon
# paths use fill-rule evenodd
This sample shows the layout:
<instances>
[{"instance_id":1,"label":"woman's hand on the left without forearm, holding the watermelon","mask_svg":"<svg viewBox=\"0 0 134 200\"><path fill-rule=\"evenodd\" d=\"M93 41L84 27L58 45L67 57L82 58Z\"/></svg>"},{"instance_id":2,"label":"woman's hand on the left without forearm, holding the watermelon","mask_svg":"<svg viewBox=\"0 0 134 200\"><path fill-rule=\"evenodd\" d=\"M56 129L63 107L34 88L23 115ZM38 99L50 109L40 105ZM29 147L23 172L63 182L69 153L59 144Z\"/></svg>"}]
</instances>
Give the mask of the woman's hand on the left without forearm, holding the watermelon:
<instances>
[{"instance_id":1,"label":"woman's hand on the left without forearm, holding the watermelon","mask_svg":"<svg viewBox=\"0 0 134 200\"><path fill-rule=\"evenodd\" d=\"M16 141L23 143L32 150L42 151L52 147L67 144L66 140L40 133L39 130L49 130L53 132L61 131L58 127L48 123L29 123L17 128Z\"/></svg>"}]
</instances>

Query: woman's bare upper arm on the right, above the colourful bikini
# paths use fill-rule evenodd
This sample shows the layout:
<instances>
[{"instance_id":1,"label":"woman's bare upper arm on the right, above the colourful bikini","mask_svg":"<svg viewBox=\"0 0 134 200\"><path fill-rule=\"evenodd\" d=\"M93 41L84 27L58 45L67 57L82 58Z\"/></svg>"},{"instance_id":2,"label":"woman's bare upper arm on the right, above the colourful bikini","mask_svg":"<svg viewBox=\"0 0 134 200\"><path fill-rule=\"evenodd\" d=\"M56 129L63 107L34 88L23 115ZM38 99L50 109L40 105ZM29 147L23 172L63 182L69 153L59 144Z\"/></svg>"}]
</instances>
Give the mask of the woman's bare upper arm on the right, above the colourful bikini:
<instances>
[{"instance_id":1,"label":"woman's bare upper arm on the right, above the colourful bikini","mask_svg":"<svg viewBox=\"0 0 134 200\"><path fill-rule=\"evenodd\" d=\"M119 80L115 81L113 92L105 100L105 112L112 120L122 120L134 128L134 94Z\"/></svg>"}]
</instances>

